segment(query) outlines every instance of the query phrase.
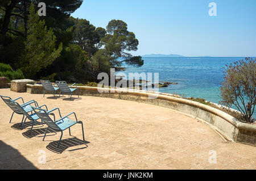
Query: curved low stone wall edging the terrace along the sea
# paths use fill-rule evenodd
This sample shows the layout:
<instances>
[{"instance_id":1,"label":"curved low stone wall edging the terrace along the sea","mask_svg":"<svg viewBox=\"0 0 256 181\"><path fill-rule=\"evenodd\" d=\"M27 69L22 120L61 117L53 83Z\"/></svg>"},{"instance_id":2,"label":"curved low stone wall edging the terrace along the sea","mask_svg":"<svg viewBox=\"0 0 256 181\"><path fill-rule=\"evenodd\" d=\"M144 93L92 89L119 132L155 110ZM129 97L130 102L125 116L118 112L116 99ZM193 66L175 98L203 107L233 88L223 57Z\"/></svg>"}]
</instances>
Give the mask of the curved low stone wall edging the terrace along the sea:
<instances>
[{"instance_id":1,"label":"curved low stone wall edging the terrace along the sea","mask_svg":"<svg viewBox=\"0 0 256 181\"><path fill-rule=\"evenodd\" d=\"M133 100L153 104L179 111L185 115L204 121L218 131L226 140L256 146L256 125L241 123L228 113L205 104L193 102L168 94L129 89L108 89L98 87L79 87L79 95L99 96L104 98ZM102 93L100 93L100 92ZM43 94L42 85L27 85L27 92ZM57 92L56 94L59 94ZM74 92L75 96L77 92Z\"/></svg>"}]
</instances>

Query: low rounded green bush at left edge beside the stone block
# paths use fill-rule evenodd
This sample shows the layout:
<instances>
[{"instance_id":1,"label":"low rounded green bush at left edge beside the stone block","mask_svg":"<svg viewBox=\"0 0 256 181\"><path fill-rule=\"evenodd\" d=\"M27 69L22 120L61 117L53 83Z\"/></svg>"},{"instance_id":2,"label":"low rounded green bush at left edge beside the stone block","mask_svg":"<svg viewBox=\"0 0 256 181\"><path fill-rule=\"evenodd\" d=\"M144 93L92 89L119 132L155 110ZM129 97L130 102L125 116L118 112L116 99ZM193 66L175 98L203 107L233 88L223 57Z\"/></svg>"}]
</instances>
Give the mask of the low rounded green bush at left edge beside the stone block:
<instances>
[{"instance_id":1,"label":"low rounded green bush at left edge beside the stone block","mask_svg":"<svg viewBox=\"0 0 256 181\"><path fill-rule=\"evenodd\" d=\"M14 79L24 79L24 75L21 70L14 71L10 65L0 63L0 77L6 77L8 82Z\"/></svg>"}]
</instances>

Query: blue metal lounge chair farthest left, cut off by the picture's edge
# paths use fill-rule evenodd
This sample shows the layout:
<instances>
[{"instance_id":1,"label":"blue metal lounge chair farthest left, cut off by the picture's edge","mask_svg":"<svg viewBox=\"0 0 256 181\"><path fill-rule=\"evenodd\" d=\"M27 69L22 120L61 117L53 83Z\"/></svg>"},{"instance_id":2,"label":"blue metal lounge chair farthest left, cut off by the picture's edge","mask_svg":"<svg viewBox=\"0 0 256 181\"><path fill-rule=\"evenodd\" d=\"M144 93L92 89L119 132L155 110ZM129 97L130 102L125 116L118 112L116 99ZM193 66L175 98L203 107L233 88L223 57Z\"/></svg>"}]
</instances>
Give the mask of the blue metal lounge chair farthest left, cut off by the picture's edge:
<instances>
[{"instance_id":1,"label":"blue metal lounge chair farthest left, cut off by the picture's edge","mask_svg":"<svg viewBox=\"0 0 256 181\"><path fill-rule=\"evenodd\" d=\"M32 112L33 111L32 108L31 108L32 103L35 103L35 106L38 107L38 103L35 100L30 100L30 101L24 103L24 100L21 97L17 98L17 99L11 99L9 96L3 96L3 95L0 95L0 96L3 99L3 102L5 102L7 104L7 106L9 106L11 108L11 110L13 110L13 114L11 115L11 119L13 119L14 113L17 113L19 115L23 115L23 112L20 112L20 110L13 103L18 99L22 100L23 104L21 104L20 107L22 107L23 110L26 111L26 112ZM11 123L11 119L10 119L9 123ZM24 115L23 115L22 121L23 121L23 119L24 119Z\"/></svg>"}]
</instances>

